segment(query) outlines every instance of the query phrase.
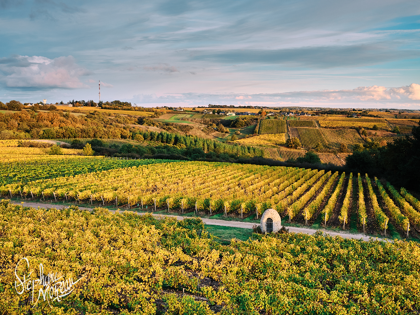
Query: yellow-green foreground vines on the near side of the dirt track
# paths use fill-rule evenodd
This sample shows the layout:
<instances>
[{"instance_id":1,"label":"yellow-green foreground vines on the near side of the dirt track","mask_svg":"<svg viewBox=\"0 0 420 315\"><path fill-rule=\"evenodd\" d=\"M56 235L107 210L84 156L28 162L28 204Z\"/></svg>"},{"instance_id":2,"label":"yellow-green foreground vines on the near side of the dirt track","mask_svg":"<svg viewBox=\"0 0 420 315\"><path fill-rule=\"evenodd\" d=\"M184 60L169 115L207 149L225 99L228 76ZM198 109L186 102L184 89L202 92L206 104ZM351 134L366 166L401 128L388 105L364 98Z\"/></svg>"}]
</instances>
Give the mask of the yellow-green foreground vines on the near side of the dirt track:
<instances>
[{"instance_id":1,"label":"yellow-green foreground vines on the near side of the dirt track","mask_svg":"<svg viewBox=\"0 0 420 315\"><path fill-rule=\"evenodd\" d=\"M343 177L333 176L347 189ZM333 176L323 177L323 193L334 189ZM319 200L306 212L322 205ZM200 219L112 215L101 208L34 209L4 201L0 224L0 309L9 315L420 311L420 250L414 242L366 242L317 232L252 234L247 241L221 245ZM31 289L16 293L23 287L14 286L22 257L29 270L20 263L20 279L30 271L36 279L42 263L45 276L81 280L59 301L46 294L48 301L41 295L36 303L42 286L35 283L34 300Z\"/></svg>"}]
</instances>

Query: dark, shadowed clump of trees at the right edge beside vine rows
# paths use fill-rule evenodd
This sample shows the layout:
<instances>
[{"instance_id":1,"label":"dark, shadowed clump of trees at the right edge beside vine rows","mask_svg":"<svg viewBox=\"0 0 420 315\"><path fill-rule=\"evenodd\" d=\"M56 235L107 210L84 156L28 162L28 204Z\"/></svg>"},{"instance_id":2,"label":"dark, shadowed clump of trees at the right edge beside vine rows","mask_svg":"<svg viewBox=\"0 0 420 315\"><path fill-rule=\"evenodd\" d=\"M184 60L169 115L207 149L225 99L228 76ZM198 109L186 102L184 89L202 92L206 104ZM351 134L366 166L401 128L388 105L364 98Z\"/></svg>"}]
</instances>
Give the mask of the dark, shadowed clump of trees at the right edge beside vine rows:
<instances>
[{"instance_id":1,"label":"dark, shadowed clump of trees at the right edge beside vine rows","mask_svg":"<svg viewBox=\"0 0 420 315\"><path fill-rule=\"evenodd\" d=\"M360 173L385 176L395 185L420 190L420 124L409 136L386 145L367 141L346 157L346 166Z\"/></svg>"}]
</instances>

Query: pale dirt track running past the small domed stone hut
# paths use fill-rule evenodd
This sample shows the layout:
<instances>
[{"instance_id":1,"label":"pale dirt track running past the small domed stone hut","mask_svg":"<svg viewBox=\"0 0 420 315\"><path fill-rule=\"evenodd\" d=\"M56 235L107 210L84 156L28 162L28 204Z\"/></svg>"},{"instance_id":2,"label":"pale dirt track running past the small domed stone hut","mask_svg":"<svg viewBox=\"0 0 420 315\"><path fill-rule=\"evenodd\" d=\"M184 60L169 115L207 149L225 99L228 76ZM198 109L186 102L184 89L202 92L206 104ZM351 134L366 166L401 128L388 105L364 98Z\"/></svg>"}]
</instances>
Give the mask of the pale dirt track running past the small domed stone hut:
<instances>
[{"instance_id":1,"label":"pale dirt track running past the small domed stone hut","mask_svg":"<svg viewBox=\"0 0 420 315\"><path fill-rule=\"evenodd\" d=\"M21 205L20 202L11 202L15 205ZM40 208L45 208L45 207L49 207L48 204L42 203L42 202L23 202L24 207L40 207ZM66 208L66 206L64 205L50 205L49 208L55 208L55 209L63 209ZM79 209L81 210L92 210L92 208L87 208L87 207L79 207ZM115 210L109 210L111 213L115 213ZM122 212L122 211L121 211ZM138 215L144 215L146 213L137 213ZM152 213L152 215L154 217L173 217L176 218L177 220L183 220L184 218L191 218L191 217L184 217L181 215L161 215L161 214L155 214ZM235 227L235 228L251 228L255 225L255 223L250 223L250 222L237 222L237 221L225 221L225 220L215 220L215 219L206 219L206 218L202 218L203 222L207 225L217 225L217 226L230 226L230 227ZM325 234L328 234L329 236L341 236L343 238L346 239L362 239L363 241L369 241L370 236L367 236L365 234L350 234L350 233L344 233L344 232L333 232L333 231L328 231L325 229L313 229L313 228L298 228L295 226L288 226L286 227L289 232L294 232L294 233L304 233L304 234L308 234L308 235L312 235L315 234L316 231L322 231ZM382 241L390 241L388 239L379 239L376 238L376 240L382 240Z\"/></svg>"}]
</instances>

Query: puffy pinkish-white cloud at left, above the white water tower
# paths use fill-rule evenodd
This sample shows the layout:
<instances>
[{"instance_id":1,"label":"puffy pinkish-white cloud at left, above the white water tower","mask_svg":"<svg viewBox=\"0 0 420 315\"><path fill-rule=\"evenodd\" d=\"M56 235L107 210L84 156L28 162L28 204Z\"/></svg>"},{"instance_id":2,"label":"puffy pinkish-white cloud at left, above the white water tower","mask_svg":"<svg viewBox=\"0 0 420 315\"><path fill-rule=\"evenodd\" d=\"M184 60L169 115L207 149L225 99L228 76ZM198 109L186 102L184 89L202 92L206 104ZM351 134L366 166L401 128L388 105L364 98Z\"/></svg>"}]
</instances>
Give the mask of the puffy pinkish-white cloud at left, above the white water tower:
<instances>
[{"instance_id":1,"label":"puffy pinkish-white cloud at left, above the white water tower","mask_svg":"<svg viewBox=\"0 0 420 315\"><path fill-rule=\"evenodd\" d=\"M79 76L86 74L87 70L78 66L73 56L49 59L14 55L0 58L0 81L9 88L89 88L79 81Z\"/></svg>"}]
</instances>

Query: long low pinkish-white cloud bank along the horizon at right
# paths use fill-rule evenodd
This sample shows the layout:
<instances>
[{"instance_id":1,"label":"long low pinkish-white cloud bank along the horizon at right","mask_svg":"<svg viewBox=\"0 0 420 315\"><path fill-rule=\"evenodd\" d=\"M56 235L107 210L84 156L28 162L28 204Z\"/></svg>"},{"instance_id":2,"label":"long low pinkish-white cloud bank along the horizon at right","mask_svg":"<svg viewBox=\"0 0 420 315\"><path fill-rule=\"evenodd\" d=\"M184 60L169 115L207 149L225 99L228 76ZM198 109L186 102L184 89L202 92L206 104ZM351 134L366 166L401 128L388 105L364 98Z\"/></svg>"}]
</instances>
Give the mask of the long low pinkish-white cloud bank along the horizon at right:
<instances>
[{"instance_id":1,"label":"long low pinkish-white cloud bank along the horizon at right","mask_svg":"<svg viewBox=\"0 0 420 315\"><path fill-rule=\"evenodd\" d=\"M130 100L138 105L147 106L194 106L194 105L308 105L320 107L371 108L409 105L420 108L420 84L412 83L398 88L357 87L346 90L295 91L285 93L235 94L235 93L185 93L157 96L134 95Z\"/></svg>"}]
</instances>

